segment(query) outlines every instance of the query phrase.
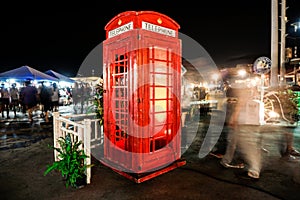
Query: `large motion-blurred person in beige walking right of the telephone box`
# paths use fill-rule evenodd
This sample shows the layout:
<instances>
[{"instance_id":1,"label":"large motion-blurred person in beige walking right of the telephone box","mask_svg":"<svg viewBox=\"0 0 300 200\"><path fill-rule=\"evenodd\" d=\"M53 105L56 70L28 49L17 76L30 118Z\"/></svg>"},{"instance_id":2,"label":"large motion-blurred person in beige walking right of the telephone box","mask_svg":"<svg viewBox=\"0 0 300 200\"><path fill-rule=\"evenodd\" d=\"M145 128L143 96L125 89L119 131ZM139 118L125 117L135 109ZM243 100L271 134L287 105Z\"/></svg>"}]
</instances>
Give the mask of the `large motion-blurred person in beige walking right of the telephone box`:
<instances>
[{"instance_id":1,"label":"large motion-blurred person in beige walking right of the telephone box","mask_svg":"<svg viewBox=\"0 0 300 200\"><path fill-rule=\"evenodd\" d=\"M261 138L255 134L249 134L249 126L239 123L239 117L247 102L252 99L253 88L228 88L227 94L236 97L234 102L228 107L231 114L228 126L230 128L227 135L227 147L225 155L221 159L221 165L225 168L244 168L243 163L233 163L237 148L240 148L243 159L248 164L247 175L258 179L261 170ZM248 129L247 129L248 128ZM253 129L254 127L251 127Z\"/></svg>"}]
</instances>

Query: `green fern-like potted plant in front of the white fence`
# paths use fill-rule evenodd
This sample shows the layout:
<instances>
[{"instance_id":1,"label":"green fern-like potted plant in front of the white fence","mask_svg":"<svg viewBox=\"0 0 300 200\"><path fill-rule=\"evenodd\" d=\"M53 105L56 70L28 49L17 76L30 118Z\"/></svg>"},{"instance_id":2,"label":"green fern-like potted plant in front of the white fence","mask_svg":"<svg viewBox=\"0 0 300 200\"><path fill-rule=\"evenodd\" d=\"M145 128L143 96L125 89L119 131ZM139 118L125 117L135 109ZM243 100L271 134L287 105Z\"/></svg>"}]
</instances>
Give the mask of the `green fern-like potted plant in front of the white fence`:
<instances>
[{"instance_id":1,"label":"green fern-like potted plant in front of the white fence","mask_svg":"<svg viewBox=\"0 0 300 200\"><path fill-rule=\"evenodd\" d=\"M68 134L66 137L58 138L58 143L60 145L59 148L54 146L49 147L59 153L59 160L47 166L44 176L53 170L57 170L61 172L62 177L65 179L66 187L80 188L86 185L85 172L92 165L85 164L88 156L83 149L79 148L82 141L72 141L70 134Z\"/></svg>"}]
</instances>

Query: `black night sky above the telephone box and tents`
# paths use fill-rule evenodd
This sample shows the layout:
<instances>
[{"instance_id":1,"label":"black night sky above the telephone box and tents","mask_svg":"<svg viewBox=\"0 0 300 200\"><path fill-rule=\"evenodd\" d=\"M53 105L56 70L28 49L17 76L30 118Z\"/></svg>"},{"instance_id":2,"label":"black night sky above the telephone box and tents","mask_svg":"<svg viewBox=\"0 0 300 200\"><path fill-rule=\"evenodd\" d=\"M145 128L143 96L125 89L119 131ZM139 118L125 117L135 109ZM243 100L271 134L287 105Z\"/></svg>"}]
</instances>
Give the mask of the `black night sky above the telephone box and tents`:
<instances>
[{"instance_id":1,"label":"black night sky above the telephone box and tents","mask_svg":"<svg viewBox=\"0 0 300 200\"><path fill-rule=\"evenodd\" d=\"M278 0L281 2L281 0ZM101 1L102 2L102 1ZM124 11L152 10L180 25L217 66L253 63L271 54L271 0L110 0L54 4L40 1L1 5L0 72L28 65L76 76L85 57L105 40L105 25ZM203 3L201 3L203 2ZM300 1L287 0L287 45L299 43L291 23L300 19ZM280 5L279 5L280 9ZM280 12L279 12L280 15ZM280 27L280 24L279 24ZM280 38L280 34L279 34Z\"/></svg>"}]
</instances>

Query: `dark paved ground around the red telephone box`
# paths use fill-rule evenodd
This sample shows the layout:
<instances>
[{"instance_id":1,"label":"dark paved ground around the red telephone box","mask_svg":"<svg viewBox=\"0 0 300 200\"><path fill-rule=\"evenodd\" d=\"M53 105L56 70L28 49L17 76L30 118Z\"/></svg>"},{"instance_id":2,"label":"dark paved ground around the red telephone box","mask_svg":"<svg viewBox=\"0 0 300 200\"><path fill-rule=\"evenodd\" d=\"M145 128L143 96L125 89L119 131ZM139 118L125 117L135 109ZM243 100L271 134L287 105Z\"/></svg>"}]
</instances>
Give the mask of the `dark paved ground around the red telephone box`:
<instances>
[{"instance_id":1,"label":"dark paved ground around the red telephone box","mask_svg":"<svg viewBox=\"0 0 300 200\"><path fill-rule=\"evenodd\" d=\"M70 108L61 110L69 112ZM65 112L66 111L66 112ZM249 134L260 135L264 147L259 180L245 175L246 169L225 169L214 156L199 158L209 128L209 118L188 123L190 145L182 158L186 165L151 180L136 184L93 160L91 184L82 189L66 189L59 174L44 177L43 171L53 160L52 124L35 115L35 123L26 116L0 122L0 194L1 199L286 199L300 198L300 161L281 158L282 133L293 131L295 146L300 148L298 127L267 125L247 127ZM197 134L191 135L192 130ZM217 147L223 151L227 133L222 130ZM184 150L184 149L183 149ZM239 153L239 151L238 151ZM237 156L239 158L239 154ZM242 157L242 156L241 156Z\"/></svg>"}]
</instances>

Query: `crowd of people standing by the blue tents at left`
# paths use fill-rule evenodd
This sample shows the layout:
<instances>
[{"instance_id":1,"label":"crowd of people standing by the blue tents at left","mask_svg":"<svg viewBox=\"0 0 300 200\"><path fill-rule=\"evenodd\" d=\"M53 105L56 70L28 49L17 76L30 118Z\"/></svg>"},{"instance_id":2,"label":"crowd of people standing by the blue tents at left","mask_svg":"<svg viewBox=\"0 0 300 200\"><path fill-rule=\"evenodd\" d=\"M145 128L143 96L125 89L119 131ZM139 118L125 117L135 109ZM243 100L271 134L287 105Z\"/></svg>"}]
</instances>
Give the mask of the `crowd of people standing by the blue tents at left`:
<instances>
[{"instance_id":1,"label":"crowd of people standing by the blue tents at left","mask_svg":"<svg viewBox=\"0 0 300 200\"><path fill-rule=\"evenodd\" d=\"M61 96L64 96L63 102L60 102ZM0 112L2 119L10 119L10 111L13 111L14 118L17 118L17 112L22 112L28 116L30 122L33 121L33 112L41 110L41 117L49 122L49 113L58 112L59 106L74 105L75 113L83 113L85 105L89 104L92 95L92 87L88 83L75 82L72 87L60 88L56 82L33 84L27 80L21 87L16 83L8 86L5 83L0 87Z\"/></svg>"}]
</instances>

